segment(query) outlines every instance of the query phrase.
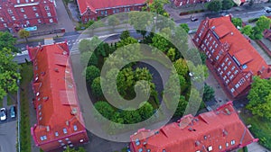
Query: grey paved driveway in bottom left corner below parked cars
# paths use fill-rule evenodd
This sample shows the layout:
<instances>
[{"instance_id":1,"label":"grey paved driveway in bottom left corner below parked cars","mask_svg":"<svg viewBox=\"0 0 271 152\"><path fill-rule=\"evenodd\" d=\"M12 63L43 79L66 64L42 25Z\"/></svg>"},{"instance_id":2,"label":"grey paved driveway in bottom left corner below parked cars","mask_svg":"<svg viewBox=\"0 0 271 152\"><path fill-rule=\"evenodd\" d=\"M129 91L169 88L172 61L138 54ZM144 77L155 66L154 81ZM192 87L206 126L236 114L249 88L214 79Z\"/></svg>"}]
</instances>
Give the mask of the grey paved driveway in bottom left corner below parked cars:
<instances>
[{"instance_id":1,"label":"grey paved driveway in bottom left corner below parked cars","mask_svg":"<svg viewBox=\"0 0 271 152\"><path fill-rule=\"evenodd\" d=\"M0 152L16 152L16 122L10 121L0 125Z\"/></svg>"}]
</instances>

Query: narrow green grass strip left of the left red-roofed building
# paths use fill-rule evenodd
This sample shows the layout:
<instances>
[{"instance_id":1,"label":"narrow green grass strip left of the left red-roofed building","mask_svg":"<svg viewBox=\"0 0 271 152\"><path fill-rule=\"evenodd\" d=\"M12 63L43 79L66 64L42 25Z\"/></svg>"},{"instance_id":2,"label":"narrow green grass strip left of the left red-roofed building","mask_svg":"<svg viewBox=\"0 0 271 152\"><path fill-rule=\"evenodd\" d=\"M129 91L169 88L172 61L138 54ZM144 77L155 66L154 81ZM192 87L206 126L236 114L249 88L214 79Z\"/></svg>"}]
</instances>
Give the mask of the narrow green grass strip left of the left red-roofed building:
<instances>
[{"instance_id":1,"label":"narrow green grass strip left of the left red-roofed building","mask_svg":"<svg viewBox=\"0 0 271 152\"><path fill-rule=\"evenodd\" d=\"M29 115L29 84L33 78L33 66L31 64L23 64L21 70L21 122L20 122L20 136L21 149L23 151L31 150L31 132L30 132L30 115Z\"/></svg>"}]
</instances>

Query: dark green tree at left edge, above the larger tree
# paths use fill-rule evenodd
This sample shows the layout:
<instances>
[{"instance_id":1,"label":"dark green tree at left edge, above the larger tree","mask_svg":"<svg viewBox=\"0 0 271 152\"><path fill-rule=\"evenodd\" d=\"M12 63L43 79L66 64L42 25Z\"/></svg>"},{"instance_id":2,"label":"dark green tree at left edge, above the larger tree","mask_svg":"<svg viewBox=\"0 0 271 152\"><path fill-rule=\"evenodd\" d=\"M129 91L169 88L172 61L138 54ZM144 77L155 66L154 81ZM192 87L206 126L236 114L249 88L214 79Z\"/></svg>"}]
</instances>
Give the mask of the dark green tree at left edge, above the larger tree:
<instances>
[{"instance_id":1,"label":"dark green tree at left edge, above the larger tree","mask_svg":"<svg viewBox=\"0 0 271 152\"><path fill-rule=\"evenodd\" d=\"M0 31L0 50L11 49L12 52L16 53L19 52L19 50L14 47L16 43L16 39L14 39L13 35L7 31L2 32Z\"/></svg>"}]
</instances>

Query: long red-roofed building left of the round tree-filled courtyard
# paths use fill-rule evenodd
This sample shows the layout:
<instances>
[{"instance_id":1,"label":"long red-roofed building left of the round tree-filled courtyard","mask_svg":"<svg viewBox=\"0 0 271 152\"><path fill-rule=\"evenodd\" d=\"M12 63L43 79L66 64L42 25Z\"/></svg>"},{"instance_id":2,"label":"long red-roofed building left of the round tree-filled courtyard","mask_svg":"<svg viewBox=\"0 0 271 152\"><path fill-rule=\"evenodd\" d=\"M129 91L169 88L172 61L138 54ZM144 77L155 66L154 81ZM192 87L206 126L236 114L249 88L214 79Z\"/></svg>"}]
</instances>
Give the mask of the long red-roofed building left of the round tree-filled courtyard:
<instances>
[{"instance_id":1,"label":"long red-roofed building left of the round tree-filled courtyard","mask_svg":"<svg viewBox=\"0 0 271 152\"><path fill-rule=\"evenodd\" d=\"M31 134L43 151L89 141L80 112L66 42L29 48L33 62L33 106L37 123Z\"/></svg>"}]
</instances>

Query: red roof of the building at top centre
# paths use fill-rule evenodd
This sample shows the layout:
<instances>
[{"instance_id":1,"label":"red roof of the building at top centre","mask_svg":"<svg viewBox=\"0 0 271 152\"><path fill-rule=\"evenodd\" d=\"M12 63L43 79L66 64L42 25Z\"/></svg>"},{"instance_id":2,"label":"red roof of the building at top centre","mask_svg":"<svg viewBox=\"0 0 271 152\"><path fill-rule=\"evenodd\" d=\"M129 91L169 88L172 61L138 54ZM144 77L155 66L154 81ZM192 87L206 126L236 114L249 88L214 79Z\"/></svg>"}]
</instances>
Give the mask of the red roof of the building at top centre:
<instances>
[{"instance_id":1,"label":"red roof of the building at top centre","mask_svg":"<svg viewBox=\"0 0 271 152\"><path fill-rule=\"evenodd\" d=\"M145 0L77 0L79 4L79 13L83 14L88 7L91 12L96 13L98 10L106 10L114 7L129 6L135 4L145 4Z\"/></svg>"}]
</instances>

